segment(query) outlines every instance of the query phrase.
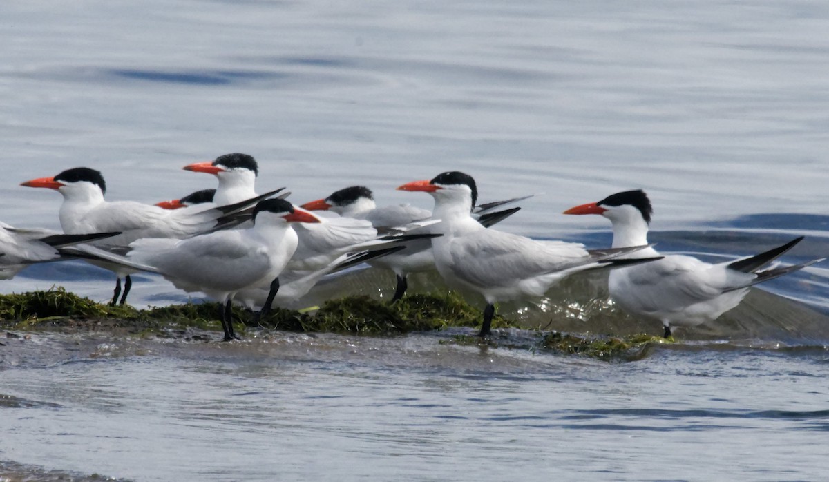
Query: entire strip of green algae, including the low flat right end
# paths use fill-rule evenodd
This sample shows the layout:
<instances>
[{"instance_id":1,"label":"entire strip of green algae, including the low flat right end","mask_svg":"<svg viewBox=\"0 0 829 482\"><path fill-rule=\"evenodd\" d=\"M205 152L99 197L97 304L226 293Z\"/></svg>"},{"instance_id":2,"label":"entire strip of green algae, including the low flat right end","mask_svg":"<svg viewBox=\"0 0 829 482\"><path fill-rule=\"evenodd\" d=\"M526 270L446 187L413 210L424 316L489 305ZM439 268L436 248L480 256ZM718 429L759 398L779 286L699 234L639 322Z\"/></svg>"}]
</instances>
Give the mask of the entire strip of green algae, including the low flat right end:
<instances>
[{"instance_id":1,"label":"entire strip of green algae, including the low flat right end","mask_svg":"<svg viewBox=\"0 0 829 482\"><path fill-rule=\"evenodd\" d=\"M106 306L77 296L62 287L46 292L0 295L0 326L33 330L55 326L120 329L131 335L182 336L187 330L221 330L221 304L216 302L151 307ZM353 335L402 335L413 331L438 331L449 327L480 326L482 312L455 292L414 294L389 305L369 296L347 296L326 301L313 309L294 311L275 308L261 318L234 306L232 318L240 333L245 326L303 333L327 332ZM495 316L493 328L516 328L516 321ZM604 360L635 360L647 356L657 345L672 343L651 335L627 337L573 335L557 331L525 336L516 342L510 336L453 335L442 344L503 349L527 349L557 354L582 355ZM192 340L209 340L191 335Z\"/></svg>"}]
</instances>

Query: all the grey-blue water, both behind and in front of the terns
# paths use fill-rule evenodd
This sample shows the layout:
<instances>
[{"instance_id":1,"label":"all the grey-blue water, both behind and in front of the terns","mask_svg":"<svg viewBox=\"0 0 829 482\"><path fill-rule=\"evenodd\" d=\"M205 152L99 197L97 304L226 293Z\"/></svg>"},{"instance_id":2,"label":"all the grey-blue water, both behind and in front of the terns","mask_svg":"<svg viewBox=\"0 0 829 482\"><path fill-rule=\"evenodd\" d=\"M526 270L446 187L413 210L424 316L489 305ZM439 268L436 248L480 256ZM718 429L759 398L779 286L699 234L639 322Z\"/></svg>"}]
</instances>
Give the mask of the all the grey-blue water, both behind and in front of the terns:
<instances>
[{"instance_id":1,"label":"all the grey-blue water, both behind and in front of the terns","mask_svg":"<svg viewBox=\"0 0 829 482\"><path fill-rule=\"evenodd\" d=\"M33 1L0 18L12 225L59 228L60 197L21 181L91 166L109 199L154 203L212 186L182 166L247 152L259 190L298 203L360 182L429 207L395 186L459 169L483 201L543 193L502 224L517 234L606 245L604 219L558 213L642 187L662 251L734 258L806 234L785 261L829 252L823 2ZM0 290L106 300L110 278L56 263ZM603 296L591 283L550 298ZM3 340L0 474L819 479L826 265L763 290L630 364L447 335ZM133 292L187 299L155 277ZM544 306L505 309L532 324Z\"/></svg>"}]
</instances>

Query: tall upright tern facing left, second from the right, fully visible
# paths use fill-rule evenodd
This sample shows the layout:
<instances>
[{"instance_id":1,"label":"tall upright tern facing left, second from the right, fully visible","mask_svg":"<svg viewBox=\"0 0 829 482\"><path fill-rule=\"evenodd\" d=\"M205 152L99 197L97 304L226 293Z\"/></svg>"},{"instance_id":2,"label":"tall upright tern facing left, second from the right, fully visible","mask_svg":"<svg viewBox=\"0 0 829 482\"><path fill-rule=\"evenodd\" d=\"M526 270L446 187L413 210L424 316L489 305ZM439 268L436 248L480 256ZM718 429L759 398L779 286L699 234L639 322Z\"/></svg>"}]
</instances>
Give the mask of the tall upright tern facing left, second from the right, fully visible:
<instances>
[{"instance_id":1,"label":"tall upright tern facing left, second from the right, fully visible","mask_svg":"<svg viewBox=\"0 0 829 482\"><path fill-rule=\"evenodd\" d=\"M489 334L495 303L545 292L574 272L598 268L634 248L588 251L584 245L534 239L487 229L472 217L478 199L475 180L449 171L431 181L413 181L399 190L424 191L434 197L434 263L449 286L480 293L487 301L480 336Z\"/></svg>"}]
</instances>

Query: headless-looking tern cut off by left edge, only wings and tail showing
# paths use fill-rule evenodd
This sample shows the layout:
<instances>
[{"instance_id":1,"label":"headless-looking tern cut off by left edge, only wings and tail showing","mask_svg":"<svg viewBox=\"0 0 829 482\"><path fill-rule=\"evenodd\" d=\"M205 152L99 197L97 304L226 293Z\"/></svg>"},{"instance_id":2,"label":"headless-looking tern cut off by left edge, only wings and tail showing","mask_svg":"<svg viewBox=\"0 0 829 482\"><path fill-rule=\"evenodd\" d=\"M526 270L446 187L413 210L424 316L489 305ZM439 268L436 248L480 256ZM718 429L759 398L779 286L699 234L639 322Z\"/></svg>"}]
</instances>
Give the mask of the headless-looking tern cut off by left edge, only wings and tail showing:
<instances>
[{"instance_id":1,"label":"headless-looking tern cut off by left edge, only wings and tail showing","mask_svg":"<svg viewBox=\"0 0 829 482\"><path fill-rule=\"evenodd\" d=\"M47 229L12 228L0 222L0 279L11 279L32 263L71 259L63 248L117 234L58 234Z\"/></svg>"}]
</instances>

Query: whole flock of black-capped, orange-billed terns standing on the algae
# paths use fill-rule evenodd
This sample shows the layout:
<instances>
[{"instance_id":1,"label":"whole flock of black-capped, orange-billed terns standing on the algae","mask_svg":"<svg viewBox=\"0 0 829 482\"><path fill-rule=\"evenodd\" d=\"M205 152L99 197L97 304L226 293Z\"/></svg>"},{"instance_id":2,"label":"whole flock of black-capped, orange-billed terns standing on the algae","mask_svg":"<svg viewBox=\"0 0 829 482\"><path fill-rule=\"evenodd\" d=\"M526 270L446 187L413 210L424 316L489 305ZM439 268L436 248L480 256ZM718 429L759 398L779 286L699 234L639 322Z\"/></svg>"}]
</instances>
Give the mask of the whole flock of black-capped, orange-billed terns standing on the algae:
<instances>
[{"instance_id":1,"label":"whole flock of black-capped, orange-billed terns standing on the algae","mask_svg":"<svg viewBox=\"0 0 829 482\"><path fill-rule=\"evenodd\" d=\"M480 336L489 335L497 302L544 296L564 277L609 269L613 301L633 316L662 321L668 337L672 326L715 320L754 284L822 261L764 269L802 237L725 263L662 255L647 242L652 206L642 190L565 211L599 214L613 224L610 248L587 249L492 229L520 209L501 210L503 205L526 198L478 205L475 181L459 171L398 187L431 195L430 212L410 205L377 206L364 186L302 206L285 200L283 190L257 195L259 167L246 154L226 154L184 169L216 176L218 186L146 205L105 200L104 177L87 167L22 183L61 193L64 234L0 224L0 279L32 263L80 258L115 273L114 305L126 301L130 273L156 272L184 291L221 301L228 341L238 339L232 302L258 309L261 316L303 296L327 274L359 263L395 272L392 302L405 295L410 273L430 270L437 270L449 287L479 293L487 302ZM319 210L337 215L314 214Z\"/></svg>"}]
</instances>

